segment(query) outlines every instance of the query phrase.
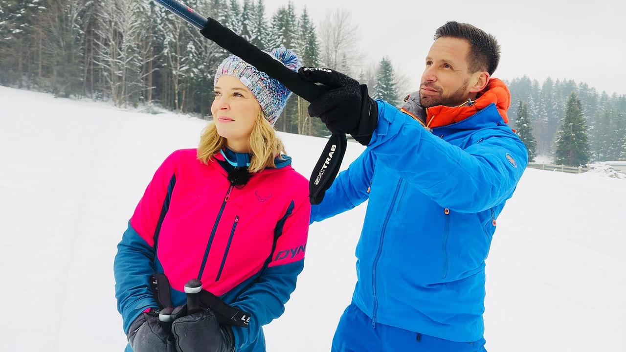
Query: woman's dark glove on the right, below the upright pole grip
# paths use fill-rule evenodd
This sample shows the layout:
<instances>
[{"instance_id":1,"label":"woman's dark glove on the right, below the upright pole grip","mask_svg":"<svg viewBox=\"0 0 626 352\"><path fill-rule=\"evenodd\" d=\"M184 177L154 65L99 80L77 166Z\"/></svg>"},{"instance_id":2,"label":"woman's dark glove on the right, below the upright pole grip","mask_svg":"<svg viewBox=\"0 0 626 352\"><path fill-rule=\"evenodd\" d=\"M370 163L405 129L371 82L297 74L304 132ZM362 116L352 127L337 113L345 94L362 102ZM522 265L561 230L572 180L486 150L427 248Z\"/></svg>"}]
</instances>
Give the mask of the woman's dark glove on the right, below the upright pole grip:
<instances>
[{"instance_id":1,"label":"woman's dark glove on the right, below the upright pole grip","mask_svg":"<svg viewBox=\"0 0 626 352\"><path fill-rule=\"evenodd\" d=\"M232 329L220 324L210 309L187 315L187 305L178 306L172 316L177 352L235 351Z\"/></svg>"}]
</instances>

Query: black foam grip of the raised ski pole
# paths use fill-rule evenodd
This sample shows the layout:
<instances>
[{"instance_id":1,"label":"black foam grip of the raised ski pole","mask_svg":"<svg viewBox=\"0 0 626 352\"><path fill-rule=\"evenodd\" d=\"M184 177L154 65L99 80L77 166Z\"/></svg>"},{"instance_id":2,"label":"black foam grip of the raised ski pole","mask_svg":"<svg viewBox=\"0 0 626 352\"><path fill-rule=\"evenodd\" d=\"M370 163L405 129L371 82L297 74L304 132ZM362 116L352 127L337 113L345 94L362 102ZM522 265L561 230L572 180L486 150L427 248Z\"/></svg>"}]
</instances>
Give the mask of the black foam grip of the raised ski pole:
<instances>
[{"instance_id":1,"label":"black foam grip of the raised ski pole","mask_svg":"<svg viewBox=\"0 0 626 352\"><path fill-rule=\"evenodd\" d=\"M254 44L238 36L230 29L222 26L215 19L208 18L207 25L200 31L203 36L215 42L230 53L239 56L242 60L264 71L268 76L280 81L295 95L301 96L307 101L314 101L324 89L315 83L302 80L297 72L289 70L280 61L272 58Z\"/></svg>"}]
</instances>

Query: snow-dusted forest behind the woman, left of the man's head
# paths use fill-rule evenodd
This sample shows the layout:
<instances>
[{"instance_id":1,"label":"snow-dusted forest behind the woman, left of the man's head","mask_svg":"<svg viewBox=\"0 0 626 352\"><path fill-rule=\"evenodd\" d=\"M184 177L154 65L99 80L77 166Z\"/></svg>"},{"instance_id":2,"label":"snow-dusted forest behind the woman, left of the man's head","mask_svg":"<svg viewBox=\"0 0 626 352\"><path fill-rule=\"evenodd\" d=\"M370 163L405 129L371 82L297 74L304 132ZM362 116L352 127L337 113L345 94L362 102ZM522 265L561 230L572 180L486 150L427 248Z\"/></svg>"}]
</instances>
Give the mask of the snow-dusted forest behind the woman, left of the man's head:
<instances>
[{"instance_id":1,"label":"snow-dusted forest behind the woman, left of the man's head","mask_svg":"<svg viewBox=\"0 0 626 352\"><path fill-rule=\"evenodd\" d=\"M306 66L362 75L359 28L346 10L329 12L316 28L293 3L266 15L263 0L187 0L255 46L293 49ZM322 40L320 40L320 37ZM229 53L152 1L0 0L0 84L88 97L117 106L158 105L210 115L213 75ZM398 96L387 58L377 96ZM391 71L390 71L391 70ZM371 71L371 70L370 70ZM366 78L363 78L366 79ZM378 82L377 82L378 83ZM307 101L292 96L277 129L327 135L309 118Z\"/></svg>"}]
</instances>

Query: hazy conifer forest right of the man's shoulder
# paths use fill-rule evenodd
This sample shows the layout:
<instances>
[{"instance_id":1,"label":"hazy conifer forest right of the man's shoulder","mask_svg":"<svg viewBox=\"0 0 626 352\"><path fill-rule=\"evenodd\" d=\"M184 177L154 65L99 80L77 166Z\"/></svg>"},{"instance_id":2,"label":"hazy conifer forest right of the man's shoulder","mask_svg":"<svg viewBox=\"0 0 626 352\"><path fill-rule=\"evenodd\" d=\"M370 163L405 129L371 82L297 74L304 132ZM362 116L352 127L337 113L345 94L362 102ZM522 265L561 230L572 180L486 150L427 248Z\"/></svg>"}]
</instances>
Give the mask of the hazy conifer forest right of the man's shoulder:
<instances>
[{"instance_id":1,"label":"hazy conifer forest right of the man's shoulder","mask_svg":"<svg viewBox=\"0 0 626 352\"><path fill-rule=\"evenodd\" d=\"M600 93L573 80L547 78L540 84L523 76L506 83L509 123L531 159L549 155L573 166L626 160L626 95Z\"/></svg>"}]
</instances>

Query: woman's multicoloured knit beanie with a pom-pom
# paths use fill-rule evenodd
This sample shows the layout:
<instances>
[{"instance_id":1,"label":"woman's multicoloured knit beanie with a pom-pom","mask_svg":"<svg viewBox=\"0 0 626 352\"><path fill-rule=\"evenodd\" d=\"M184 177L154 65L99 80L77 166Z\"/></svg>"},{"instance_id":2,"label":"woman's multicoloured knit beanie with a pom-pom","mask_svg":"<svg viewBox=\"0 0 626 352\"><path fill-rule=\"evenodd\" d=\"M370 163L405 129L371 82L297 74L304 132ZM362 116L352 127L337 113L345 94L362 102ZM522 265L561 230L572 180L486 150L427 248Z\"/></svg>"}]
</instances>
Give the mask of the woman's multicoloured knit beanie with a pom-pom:
<instances>
[{"instance_id":1,"label":"woman's multicoloured knit beanie with a pom-pom","mask_svg":"<svg viewBox=\"0 0 626 352\"><path fill-rule=\"evenodd\" d=\"M302 66L298 56L290 49L286 49L282 46L273 49L269 54L272 58L275 58L289 68L289 70L298 71L300 66ZM225 75L238 78L252 91L252 95L259 101L259 105L261 105L261 110L263 110L265 118L274 126L280 113L282 113L282 110L287 104L287 99L289 99L291 91L279 81L274 80L274 78L271 78L265 72L257 70L257 68L249 65L249 63L235 55L228 56L228 58L225 58L224 61L220 63L220 66L217 67L213 85L217 85L217 80Z\"/></svg>"}]
</instances>

